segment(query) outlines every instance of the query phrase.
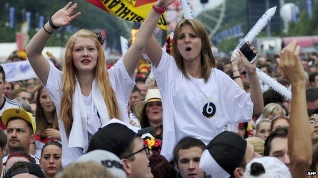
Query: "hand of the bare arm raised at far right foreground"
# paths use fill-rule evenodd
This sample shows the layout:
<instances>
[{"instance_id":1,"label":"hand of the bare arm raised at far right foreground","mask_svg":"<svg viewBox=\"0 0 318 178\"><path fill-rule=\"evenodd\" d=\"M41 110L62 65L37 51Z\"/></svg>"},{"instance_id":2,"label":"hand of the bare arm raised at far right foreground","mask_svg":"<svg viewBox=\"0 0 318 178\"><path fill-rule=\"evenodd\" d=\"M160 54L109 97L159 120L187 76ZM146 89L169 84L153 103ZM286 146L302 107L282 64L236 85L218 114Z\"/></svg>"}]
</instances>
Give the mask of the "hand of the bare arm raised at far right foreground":
<instances>
[{"instance_id":1,"label":"hand of the bare arm raised at far right foreground","mask_svg":"<svg viewBox=\"0 0 318 178\"><path fill-rule=\"evenodd\" d=\"M282 75L292 83L292 85L305 85L306 77L304 68L299 58L300 46L297 41L290 42L281 52L277 63Z\"/></svg>"}]
</instances>

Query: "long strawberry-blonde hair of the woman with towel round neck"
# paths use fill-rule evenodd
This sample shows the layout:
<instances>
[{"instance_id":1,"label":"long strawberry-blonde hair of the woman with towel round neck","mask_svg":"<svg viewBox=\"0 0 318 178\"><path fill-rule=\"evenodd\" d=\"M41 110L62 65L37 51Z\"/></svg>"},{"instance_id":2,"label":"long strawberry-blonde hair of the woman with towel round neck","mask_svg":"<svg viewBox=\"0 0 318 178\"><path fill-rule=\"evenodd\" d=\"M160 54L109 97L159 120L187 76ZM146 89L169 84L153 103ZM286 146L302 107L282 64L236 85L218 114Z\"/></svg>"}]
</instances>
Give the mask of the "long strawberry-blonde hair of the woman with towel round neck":
<instances>
[{"instance_id":1,"label":"long strawberry-blonde hair of the woman with towel round neck","mask_svg":"<svg viewBox=\"0 0 318 178\"><path fill-rule=\"evenodd\" d=\"M90 38L95 42L98 50L97 64L95 66L95 78L97 80L98 86L103 95L104 101L108 108L108 114L110 118L120 119L118 102L116 99L115 92L110 84L109 75L106 68L106 60L102 46L98 41L97 35L86 29L77 31L72 35L66 44L65 51L65 64L63 73L63 96L61 101L61 118L65 127L65 132L67 136L72 128L73 117L72 117L72 96L75 91L75 73L77 72L73 60L72 60L72 50L77 37Z\"/></svg>"}]
</instances>

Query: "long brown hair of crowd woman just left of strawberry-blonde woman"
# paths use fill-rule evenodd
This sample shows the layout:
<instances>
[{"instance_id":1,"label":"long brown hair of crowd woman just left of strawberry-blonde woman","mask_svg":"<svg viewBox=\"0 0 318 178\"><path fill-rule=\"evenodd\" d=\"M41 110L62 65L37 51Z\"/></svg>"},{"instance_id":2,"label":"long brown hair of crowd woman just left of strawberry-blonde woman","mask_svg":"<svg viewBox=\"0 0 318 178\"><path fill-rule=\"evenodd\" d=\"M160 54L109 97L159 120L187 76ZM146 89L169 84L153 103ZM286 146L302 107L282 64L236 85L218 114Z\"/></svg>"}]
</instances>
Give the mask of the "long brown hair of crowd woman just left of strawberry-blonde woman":
<instances>
[{"instance_id":1,"label":"long brown hair of crowd woman just left of strawberry-blonde woman","mask_svg":"<svg viewBox=\"0 0 318 178\"><path fill-rule=\"evenodd\" d=\"M36 118L35 123L36 123L37 130L40 134L41 139L46 138L45 129L49 127L49 123L47 122L47 118L45 117L45 114L44 114L44 109L40 103L40 96L43 89L44 89L43 86L41 86L38 89L37 99L36 99L36 110L35 110L35 118ZM52 121L51 128L58 129L59 123L58 123L58 116L57 116L56 109L52 112L54 112L54 119Z\"/></svg>"}]
</instances>

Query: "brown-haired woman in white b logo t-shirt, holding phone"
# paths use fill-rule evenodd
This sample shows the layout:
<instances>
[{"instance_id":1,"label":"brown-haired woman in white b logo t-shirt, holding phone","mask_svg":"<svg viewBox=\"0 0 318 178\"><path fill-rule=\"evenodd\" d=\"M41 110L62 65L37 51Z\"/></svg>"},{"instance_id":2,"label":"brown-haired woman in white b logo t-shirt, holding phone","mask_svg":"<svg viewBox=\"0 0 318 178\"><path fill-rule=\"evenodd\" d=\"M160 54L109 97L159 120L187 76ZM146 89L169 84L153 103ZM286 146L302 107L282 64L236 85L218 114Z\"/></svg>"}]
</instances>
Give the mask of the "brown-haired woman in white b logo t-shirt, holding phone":
<instances>
[{"instance_id":1,"label":"brown-haired woman in white b logo t-shirt, holding phone","mask_svg":"<svg viewBox=\"0 0 318 178\"><path fill-rule=\"evenodd\" d=\"M165 9L174 0L158 0L140 27L135 44L145 47L151 60L163 103L163 148L169 161L176 143L193 136L207 144L224 130L236 132L235 125L248 122L263 110L256 63L243 58L251 93L247 94L226 74L215 68L208 35L196 20L181 20L175 28L172 56L151 35ZM250 45L253 53L254 47ZM140 49L142 50L142 49ZM136 51L137 52L137 51Z\"/></svg>"}]
</instances>

